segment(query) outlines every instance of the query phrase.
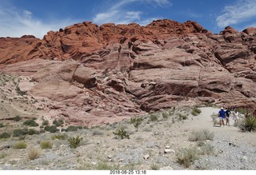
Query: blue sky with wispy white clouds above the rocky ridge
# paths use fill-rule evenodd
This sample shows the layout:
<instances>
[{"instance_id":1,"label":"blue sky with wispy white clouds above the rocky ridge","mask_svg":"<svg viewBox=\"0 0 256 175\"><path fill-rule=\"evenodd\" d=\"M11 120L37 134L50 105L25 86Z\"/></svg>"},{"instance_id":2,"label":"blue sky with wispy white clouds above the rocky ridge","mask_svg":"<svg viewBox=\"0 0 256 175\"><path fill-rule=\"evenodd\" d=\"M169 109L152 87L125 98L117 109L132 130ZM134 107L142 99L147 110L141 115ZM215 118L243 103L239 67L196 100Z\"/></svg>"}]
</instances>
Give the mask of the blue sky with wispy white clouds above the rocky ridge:
<instances>
[{"instance_id":1,"label":"blue sky with wispy white clouds above the rocky ridge","mask_svg":"<svg viewBox=\"0 0 256 175\"><path fill-rule=\"evenodd\" d=\"M33 34L91 21L145 26L156 19L196 21L218 34L256 27L256 0L0 0L0 37Z\"/></svg>"}]
</instances>

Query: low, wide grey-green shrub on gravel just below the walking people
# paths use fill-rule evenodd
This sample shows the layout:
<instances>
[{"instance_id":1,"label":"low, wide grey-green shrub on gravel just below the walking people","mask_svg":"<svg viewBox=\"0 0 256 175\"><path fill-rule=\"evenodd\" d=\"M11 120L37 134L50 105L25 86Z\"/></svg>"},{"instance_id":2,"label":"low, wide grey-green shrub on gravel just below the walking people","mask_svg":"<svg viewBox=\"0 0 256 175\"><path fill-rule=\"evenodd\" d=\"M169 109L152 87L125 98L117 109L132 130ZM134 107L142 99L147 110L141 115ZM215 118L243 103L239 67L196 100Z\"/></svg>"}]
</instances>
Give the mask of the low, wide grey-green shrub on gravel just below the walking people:
<instances>
[{"instance_id":1,"label":"low, wide grey-green shrub on gravel just below the walking people","mask_svg":"<svg viewBox=\"0 0 256 175\"><path fill-rule=\"evenodd\" d=\"M214 140L214 133L210 132L208 129L201 129L199 131L193 131L189 138L190 141L206 141Z\"/></svg>"}]
</instances>

